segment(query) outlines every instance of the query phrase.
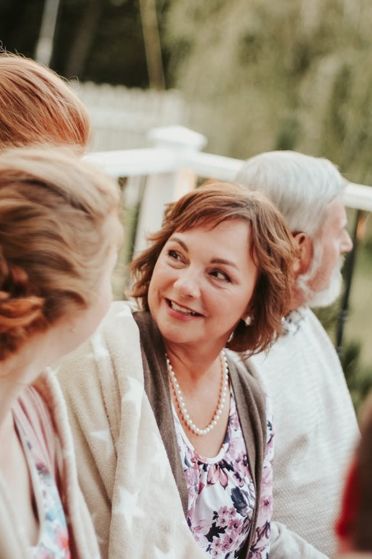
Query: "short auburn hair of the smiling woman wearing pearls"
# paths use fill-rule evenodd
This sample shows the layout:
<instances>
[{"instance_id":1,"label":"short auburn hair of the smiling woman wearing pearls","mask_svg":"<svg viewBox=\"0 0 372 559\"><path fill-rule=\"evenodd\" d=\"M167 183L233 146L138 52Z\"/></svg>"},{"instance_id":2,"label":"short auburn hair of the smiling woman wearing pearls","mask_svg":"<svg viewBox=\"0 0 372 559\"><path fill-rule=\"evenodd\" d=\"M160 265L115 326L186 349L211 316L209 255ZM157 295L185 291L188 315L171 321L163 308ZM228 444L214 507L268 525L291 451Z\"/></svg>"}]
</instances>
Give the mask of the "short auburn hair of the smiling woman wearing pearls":
<instances>
[{"instance_id":1,"label":"short auburn hair of the smiling woman wearing pearls","mask_svg":"<svg viewBox=\"0 0 372 559\"><path fill-rule=\"evenodd\" d=\"M282 317L289 310L293 262L298 255L297 244L283 217L260 192L247 192L237 184L208 182L168 205L161 230L149 236L149 248L131 263L131 295L142 309L149 310L148 288L153 269L175 231L199 226L214 228L228 220L249 224L249 253L258 274L252 299L247 301L253 323L246 326L241 320L227 347L242 353L258 353L281 333Z\"/></svg>"}]
</instances>

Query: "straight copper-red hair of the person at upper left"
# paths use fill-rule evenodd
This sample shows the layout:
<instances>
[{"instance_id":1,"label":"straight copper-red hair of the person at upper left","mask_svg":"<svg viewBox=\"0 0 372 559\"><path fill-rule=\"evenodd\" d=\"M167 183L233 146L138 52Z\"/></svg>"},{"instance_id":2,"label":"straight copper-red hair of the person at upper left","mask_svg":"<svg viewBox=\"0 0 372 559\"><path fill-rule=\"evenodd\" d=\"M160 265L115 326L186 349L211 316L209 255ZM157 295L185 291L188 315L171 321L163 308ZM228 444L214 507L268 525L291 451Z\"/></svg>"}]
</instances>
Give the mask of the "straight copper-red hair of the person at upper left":
<instances>
[{"instance_id":1,"label":"straight copper-red hair of the person at upper left","mask_svg":"<svg viewBox=\"0 0 372 559\"><path fill-rule=\"evenodd\" d=\"M49 143L83 151L90 119L68 82L24 56L0 53L0 151Z\"/></svg>"}]
</instances>

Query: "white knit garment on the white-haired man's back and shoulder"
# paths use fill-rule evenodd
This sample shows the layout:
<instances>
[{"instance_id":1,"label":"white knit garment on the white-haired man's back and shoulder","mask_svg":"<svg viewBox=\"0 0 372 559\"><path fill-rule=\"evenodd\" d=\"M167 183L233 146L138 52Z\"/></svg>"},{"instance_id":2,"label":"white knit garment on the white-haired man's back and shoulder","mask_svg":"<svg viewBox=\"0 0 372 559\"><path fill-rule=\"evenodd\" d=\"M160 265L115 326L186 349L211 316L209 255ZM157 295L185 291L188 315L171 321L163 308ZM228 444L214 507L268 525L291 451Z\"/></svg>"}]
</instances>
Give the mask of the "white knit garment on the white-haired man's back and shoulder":
<instances>
[{"instance_id":1,"label":"white knit garment on the white-haired man's back and shoulder","mask_svg":"<svg viewBox=\"0 0 372 559\"><path fill-rule=\"evenodd\" d=\"M320 559L335 552L334 521L359 432L325 330L308 308L291 318L268 355L249 360L272 400L276 430L270 559Z\"/></svg>"}]
</instances>

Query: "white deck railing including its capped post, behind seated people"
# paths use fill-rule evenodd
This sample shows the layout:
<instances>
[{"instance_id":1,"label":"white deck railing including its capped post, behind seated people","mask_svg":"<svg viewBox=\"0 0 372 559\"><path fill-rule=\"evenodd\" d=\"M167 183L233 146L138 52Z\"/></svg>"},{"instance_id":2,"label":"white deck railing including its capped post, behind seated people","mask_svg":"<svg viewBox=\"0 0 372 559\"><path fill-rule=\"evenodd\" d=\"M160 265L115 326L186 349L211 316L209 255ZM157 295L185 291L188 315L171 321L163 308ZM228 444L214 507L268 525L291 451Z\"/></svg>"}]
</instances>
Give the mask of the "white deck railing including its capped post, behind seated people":
<instances>
[{"instance_id":1,"label":"white deck railing including its capped post, behind seated people","mask_svg":"<svg viewBox=\"0 0 372 559\"><path fill-rule=\"evenodd\" d=\"M234 181L243 164L240 159L201 152L206 145L205 136L182 126L153 129L149 139L153 148L102 151L86 156L114 177L146 176L136 250L143 248L147 232L159 228L165 203L194 188L199 177ZM372 188L349 183L344 201L347 207L372 212Z\"/></svg>"}]
</instances>

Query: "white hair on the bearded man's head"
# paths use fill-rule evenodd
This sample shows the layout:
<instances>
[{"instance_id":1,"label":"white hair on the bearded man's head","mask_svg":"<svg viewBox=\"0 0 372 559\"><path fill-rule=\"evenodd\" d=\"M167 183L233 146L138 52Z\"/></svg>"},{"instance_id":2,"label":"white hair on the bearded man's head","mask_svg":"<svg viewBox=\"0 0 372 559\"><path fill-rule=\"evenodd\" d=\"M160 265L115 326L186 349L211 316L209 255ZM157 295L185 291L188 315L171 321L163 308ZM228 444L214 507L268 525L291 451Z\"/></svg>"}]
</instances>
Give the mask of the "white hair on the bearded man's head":
<instances>
[{"instance_id":1,"label":"white hair on the bearded man's head","mask_svg":"<svg viewBox=\"0 0 372 559\"><path fill-rule=\"evenodd\" d=\"M342 195L346 180L328 159L296 151L267 151L248 159L235 182L260 190L281 211L292 233L313 236L327 205Z\"/></svg>"}]
</instances>

